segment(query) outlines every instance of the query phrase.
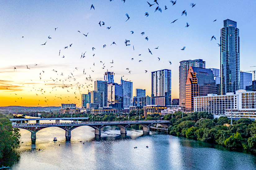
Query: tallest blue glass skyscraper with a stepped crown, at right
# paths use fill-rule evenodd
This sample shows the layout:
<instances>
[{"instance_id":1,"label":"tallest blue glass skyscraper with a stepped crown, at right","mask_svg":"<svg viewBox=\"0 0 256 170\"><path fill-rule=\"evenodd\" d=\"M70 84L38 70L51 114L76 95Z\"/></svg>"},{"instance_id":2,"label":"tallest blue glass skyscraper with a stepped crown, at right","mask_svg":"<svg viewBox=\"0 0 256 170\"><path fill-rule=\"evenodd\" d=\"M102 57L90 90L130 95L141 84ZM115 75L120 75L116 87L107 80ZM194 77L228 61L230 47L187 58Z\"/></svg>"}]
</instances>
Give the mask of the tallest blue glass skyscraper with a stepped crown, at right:
<instances>
[{"instance_id":1,"label":"tallest blue glass skyscraper with a stepped crown, at right","mask_svg":"<svg viewBox=\"0 0 256 170\"><path fill-rule=\"evenodd\" d=\"M240 88L240 37L236 22L223 21L220 37L221 94L235 92Z\"/></svg>"}]
</instances>

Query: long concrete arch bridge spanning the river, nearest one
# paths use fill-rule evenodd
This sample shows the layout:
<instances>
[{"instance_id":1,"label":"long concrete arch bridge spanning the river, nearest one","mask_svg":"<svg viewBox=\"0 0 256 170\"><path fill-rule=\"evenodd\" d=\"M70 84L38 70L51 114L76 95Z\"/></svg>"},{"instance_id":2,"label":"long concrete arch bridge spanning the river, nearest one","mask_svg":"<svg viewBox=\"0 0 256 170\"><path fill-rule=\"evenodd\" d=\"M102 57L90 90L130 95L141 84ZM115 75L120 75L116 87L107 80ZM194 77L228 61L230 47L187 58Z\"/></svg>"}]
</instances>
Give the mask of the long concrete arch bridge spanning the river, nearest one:
<instances>
[{"instance_id":1,"label":"long concrete arch bridge spanning the river, nearest one","mask_svg":"<svg viewBox=\"0 0 256 170\"><path fill-rule=\"evenodd\" d=\"M52 119L52 118L51 118ZM63 118L60 118L63 119ZM81 119L81 118L79 118ZM12 119L10 119L12 121ZM40 119L42 120L42 119ZM70 120L70 118L69 118ZM17 121L17 120L15 120ZM74 121L71 123L12 123L15 128L29 130L31 132L31 141L35 143L36 133L47 127L59 127L65 130L66 141L71 139L71 131L80 126L90 126L95 130L95 136L99 137L101 135L101 129L105 126L116 125L120 128L121 134L127 134L127 128L130 125L141 125L143 127L143 134L149 134L150 127L154 124L160 124L164 128L168 128L170 125L169 121L163 120L148 120L148 121L91 121L91 122L78 122Z\"/></svg>"}]
</instances>

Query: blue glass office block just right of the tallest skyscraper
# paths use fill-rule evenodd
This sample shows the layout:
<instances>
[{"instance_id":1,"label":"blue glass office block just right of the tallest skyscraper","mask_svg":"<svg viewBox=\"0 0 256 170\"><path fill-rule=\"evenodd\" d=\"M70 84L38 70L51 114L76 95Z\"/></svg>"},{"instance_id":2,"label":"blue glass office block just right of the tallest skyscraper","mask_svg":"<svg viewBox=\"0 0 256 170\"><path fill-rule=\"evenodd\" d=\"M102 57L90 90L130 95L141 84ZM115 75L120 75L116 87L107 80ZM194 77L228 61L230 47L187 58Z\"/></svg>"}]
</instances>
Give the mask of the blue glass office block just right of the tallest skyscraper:
<instances>
[{"instance_id":1,"label":"blue glass office block just right of the tallest skyscraper","mask_svg":"<svg viewBox=\"0 0 256 170\"><path fill-rule=\"evenodd\" d=\"M240 89L252 91L253 74L240 71Z\"/></svg>"}]
</instances>

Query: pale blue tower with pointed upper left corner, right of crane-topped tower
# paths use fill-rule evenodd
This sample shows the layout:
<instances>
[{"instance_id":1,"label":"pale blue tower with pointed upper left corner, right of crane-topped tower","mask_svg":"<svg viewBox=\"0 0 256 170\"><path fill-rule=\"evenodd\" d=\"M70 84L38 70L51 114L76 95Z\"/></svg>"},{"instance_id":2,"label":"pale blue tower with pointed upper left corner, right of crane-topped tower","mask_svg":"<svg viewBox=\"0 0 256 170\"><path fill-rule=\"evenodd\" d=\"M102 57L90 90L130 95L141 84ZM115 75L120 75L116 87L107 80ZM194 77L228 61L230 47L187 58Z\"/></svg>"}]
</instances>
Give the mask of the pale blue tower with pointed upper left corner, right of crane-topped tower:
<instances>
[{"instance_id":1,"label":"pale blue tower with pointed upper left corner, right of crane-topped tower","mask_svg":"<svg viewBox=\"0 0 256 170\"><path fill-rule=\"evenodd\" d=\"M124 109L129 109L132 106L132 82L124 81L121 77L121 85L123 87Z\"/></svg>"}]
</instances>

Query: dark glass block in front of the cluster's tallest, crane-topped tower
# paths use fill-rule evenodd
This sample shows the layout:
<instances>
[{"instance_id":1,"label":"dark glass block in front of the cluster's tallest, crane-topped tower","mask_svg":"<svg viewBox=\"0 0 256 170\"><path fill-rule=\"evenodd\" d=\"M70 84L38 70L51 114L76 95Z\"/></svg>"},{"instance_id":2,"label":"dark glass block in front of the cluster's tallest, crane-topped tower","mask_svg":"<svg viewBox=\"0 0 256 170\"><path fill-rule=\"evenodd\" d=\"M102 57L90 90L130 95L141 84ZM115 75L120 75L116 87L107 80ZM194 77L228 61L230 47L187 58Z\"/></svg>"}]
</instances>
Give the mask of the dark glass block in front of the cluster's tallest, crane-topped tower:
<instances>
[{"instance_id":1,"label":"dark glass block in front of the cluster's tallest, crane-topped tower","mask_svg":"<svg viewBox=\"0 0 256 170\"><path fill-rule=\"evenodd\" d=\"M123 87L118 83L108 83L108 107L123 108Z\"/></svg>"}]
</instances>

